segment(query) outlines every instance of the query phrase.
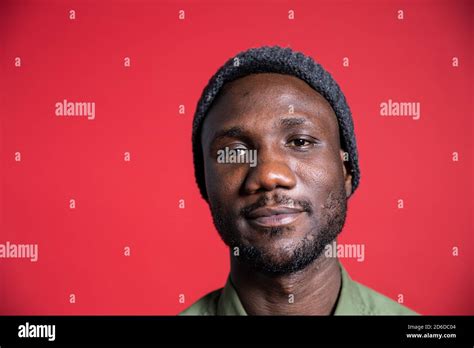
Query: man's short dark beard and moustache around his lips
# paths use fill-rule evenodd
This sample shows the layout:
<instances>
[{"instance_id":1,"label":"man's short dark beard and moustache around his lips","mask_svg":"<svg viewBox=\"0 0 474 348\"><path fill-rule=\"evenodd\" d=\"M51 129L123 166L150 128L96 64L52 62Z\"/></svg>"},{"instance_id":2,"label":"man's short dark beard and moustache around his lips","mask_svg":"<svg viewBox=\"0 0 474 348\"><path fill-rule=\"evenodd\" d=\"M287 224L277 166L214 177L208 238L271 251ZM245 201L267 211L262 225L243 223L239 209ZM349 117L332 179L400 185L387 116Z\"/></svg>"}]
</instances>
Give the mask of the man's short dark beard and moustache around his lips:
<instances>
[{"instance_id":1,"label":"man's short dark beard and moustache around his lips","mask_svg":"<svg viewBox=\"0 0 474 348\"><path fill-rule=\"evenodd\" d=\"M262 196L255 204L243 208L240 216L244 216L247 211L265 206L268 201L268 196ZM278 204L296 202L311 219L311 228L306 236L289 246L277 249L276 253L244 241L233 215L224 211L221 208L222 204L210 204L214 225L224 243L232 250L238 248L238 261L244 262L257 272L281 276L305 269L324 252L326 246L336 239L344 227L347 198L343 187L332 191L317 212L309 201L296 201L285 195L274 195L272 201ZM270 228L264 233L269 239L278 238L285 228L287 227Z\"/></svg>"}]
</instances>

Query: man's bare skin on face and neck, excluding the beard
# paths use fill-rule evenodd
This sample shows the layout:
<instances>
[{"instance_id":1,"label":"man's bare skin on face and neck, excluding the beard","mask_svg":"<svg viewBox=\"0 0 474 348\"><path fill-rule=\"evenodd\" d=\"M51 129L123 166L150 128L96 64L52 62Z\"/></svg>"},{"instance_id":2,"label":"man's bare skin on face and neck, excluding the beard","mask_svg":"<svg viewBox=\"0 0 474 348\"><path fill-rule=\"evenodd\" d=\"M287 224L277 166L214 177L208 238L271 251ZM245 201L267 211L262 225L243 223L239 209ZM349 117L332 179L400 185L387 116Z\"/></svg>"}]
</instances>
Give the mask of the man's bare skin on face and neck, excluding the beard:
<instances>
[{"instance_id":1,"label":"man's bare skin on face and neck, excluding the beard","mask_svg":"<svg viewBox=\"0 0 474 348\"><path fill-rule=\"evenodd\" d=\"M242 244L259 248L276 264L291 259L303 241L318 238L332 195L351 195L336 115L296 77L253 74L226 84L201 140L211 209L218 207L232 221ZM217 163L216 152L224 147L257 150L257 166ZM308 202L312 210L273 201L275 195ZM242 215L262 197L268 198L263 210ZM275 228L278 233L269 233ZM225 239L225 231L220 233ZM231 280L250 315L329 315L341 286L337 258L324 253L304 269L275 275L256 270L231 248Z\"/></svg>"}]
</instances>

